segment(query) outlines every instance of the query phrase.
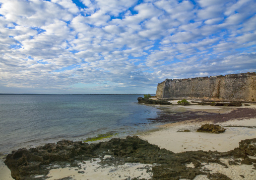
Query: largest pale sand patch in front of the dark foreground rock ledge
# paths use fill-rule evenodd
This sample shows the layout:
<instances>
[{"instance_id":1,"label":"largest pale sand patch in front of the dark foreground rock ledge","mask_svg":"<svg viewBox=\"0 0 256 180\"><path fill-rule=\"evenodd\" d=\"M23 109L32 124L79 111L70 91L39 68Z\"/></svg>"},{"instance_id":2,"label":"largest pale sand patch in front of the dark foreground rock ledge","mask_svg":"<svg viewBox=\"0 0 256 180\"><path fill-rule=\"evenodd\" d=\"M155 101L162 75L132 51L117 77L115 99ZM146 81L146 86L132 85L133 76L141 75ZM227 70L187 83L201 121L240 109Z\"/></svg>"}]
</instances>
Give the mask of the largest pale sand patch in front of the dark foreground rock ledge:
<instances>
[{"instance_id":1,"label":"largest pale sand patch in front of the dark foreground rock ledge","mask_svg":"<svg viewBox=\"0 0 256 180\"><path fill-rule=\"evenodd\" d=\"M152 169L152 164L140 164L140 163L125 163L123 165L117 166L105 166L102 167L99 162L101 160L96 158L94 160L85 161L85 163L80 164L81 169L74 167L51 169L48 180L59 179L63 177L71 176L76 180L110 180L110 179L125 179L130 177L146 178L152 177L152 173L148 173L147 169ZM84 173L79 173L83 171Z\"/></svg>"}]
</instances>

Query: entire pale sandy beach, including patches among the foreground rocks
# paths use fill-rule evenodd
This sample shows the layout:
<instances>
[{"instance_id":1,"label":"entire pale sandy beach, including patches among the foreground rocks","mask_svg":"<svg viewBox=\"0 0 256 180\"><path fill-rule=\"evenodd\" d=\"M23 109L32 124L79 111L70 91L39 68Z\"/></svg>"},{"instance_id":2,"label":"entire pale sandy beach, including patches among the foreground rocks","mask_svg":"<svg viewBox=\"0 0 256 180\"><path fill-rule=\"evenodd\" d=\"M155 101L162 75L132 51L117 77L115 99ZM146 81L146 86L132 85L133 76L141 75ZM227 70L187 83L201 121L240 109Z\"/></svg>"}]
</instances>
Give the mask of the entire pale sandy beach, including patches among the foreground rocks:
<instances>
[{"instance_id":1,"label":"entire pale sandy beach, including patches among the foreground rocks","mask_svg":"<svg viewBox=\"0 0 256 180\"><path fill-rule=\"evenodd\" d=\"M168 111L168 107L165 107ZM150 144L155 144L160 148L172 151L174 153L186 153L186 151L207 151L218 153L231 151L239 147L239 142L244 139L256 138L256 104L241 107L213 107L213 106L180 106L189 110L191 114L213 113L207 116L195 116L188 120L177 121L174 123L164 123L158 126L157 130L141 132L137 134L139 138L148 141ZM216 114L217 113L217 114ZM169 117L162 117L166 122ZM193 116L194 117L194 116ZM158 120L161 117L158 117ZM167 120L166 120L167 119ZM218 124L226 130L224 133L212 134L196 132L203 124ZM184 132L184 130L188 132ZM108 139L104 139L108 140ZM104 141L103 140L103 141ZM113 156L112 156L113 157ZM50 170L47 177L49 179L61 179L70 177L70 179L132 179L134 177L150 179L152 178L152 167L154 164L145 163L122 163L109 164L102 166L101 161L112 158L104 156L102 158L92 158L84 161L76 167L63 167ZM256 156L248 155L250 159L256 159ZM232 157L221 157L219 162L202 162L202 174L196 175L196 179L209 179L205 175L205 170L208 169L210 173L221 173L230 179L255 179L256 170L252 164L242 163L242 159ZM230 161L237 161L237 163L230 163ZM193 162L186 164L187 168L195 168ZM225 168L223 168L225 167ZM198 168L198 167L197 167ZM10 177L10 170L6 166L1 166L1 174L3 179L12 179ZM82 170L81 170L82 169ZM203 170L204 169L204 170ZM3 172L3 173L2 173ZM40 176L38 176L40 177ZM86 177L86 178L85 178ZM180 178L182 180L186 178ZM224 178L225 179L225 178ZM227 178L226 178L227 179Z\"/></svg>"}]
</instances>

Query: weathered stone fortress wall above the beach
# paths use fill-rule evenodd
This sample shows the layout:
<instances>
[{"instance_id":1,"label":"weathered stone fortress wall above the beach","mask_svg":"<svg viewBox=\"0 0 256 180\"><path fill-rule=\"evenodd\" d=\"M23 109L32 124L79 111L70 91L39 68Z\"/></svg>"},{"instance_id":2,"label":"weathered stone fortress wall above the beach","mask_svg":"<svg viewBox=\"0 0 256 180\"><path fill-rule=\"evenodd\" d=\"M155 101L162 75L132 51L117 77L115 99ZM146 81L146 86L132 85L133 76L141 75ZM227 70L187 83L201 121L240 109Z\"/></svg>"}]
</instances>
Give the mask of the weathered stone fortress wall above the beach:
<instances>
[{"instance_id":1,"label":"weathered stone fortress wall above the beach","mask_svg":"<svg viewBox=\"0 0 256 180\"><path fill-rule=\"evenodd\" d=\"M161 100L256 101L256 73L165 79L157 85Z\"/></svg>"}]
</instances>

